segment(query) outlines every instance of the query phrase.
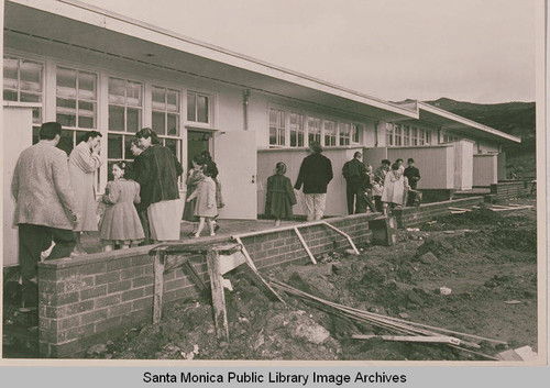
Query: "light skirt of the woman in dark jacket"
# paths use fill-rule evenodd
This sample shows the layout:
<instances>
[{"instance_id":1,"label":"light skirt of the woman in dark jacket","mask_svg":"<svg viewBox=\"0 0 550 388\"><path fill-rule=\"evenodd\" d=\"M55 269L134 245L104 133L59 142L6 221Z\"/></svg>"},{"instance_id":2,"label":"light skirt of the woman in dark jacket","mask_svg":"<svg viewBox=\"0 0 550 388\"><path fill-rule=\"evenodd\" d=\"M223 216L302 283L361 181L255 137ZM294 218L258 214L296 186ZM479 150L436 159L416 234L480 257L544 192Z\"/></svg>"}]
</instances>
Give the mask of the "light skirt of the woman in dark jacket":
<instances>
[{"instance_id":1,"label":"light skirt of the woman in dark jacket","mask_svg":"<svg viewBox=\"0 0 550 388\"><path fill-rule=\"evenodd\" d=\"M182 213L179 199L161 201L147 208L151 239L156 241L179 240Z\"/></svg>"}]
</instances>

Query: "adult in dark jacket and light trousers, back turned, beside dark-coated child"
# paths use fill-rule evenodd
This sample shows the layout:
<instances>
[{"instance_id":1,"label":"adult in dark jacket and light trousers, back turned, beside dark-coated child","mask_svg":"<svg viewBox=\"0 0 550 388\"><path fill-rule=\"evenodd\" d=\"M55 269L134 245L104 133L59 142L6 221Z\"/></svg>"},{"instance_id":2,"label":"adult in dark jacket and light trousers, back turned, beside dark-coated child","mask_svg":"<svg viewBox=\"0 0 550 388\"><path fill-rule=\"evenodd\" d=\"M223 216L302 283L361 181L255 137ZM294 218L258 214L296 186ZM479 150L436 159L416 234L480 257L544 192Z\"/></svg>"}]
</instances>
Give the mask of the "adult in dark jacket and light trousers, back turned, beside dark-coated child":
<instances>
[{"instance_id":1,"label":"adult in dark jacket and light trousers, back turned, beside dark-coated child","mask_svg":"<svg viewBox=\"0 0 550 388\"><path fill-rule=\"evenodd\" d=\"M332 180L332 164L321 155L322 147L318 142L309 144L311 155L301 160L300 171L294 188L299 190L304 185L306 197L307 220L320 220L327 206L327 186Z\"/></svg>"}]
</instances>

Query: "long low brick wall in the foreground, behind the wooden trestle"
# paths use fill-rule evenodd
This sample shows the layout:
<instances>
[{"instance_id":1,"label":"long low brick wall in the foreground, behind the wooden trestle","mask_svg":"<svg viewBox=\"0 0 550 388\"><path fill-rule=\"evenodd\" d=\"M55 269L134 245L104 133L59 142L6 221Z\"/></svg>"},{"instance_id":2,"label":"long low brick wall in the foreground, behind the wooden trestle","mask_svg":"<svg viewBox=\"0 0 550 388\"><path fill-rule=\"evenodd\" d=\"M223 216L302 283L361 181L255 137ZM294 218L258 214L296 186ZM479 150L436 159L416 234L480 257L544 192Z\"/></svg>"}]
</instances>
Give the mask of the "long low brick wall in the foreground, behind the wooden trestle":
<instances>
[{"instance_id":1,"label":"long low brick wall in the foreground, behind the wooden trestle","mask_svg":"<svg viewBox=\"0 0 550 388\"><path fill-rule=\"evenodd\" d=\"M377 215L358 214L328 221L360 244L370 242L369 220ZM300 232L314 255L348 246L345 237L327 226L302 228ZM207 242L223 240L217 237ZM243 237L242 241L258 269L309 260L292 230ZM150 250L151 246L135 247L40 263L41 356L81 357L89 346L151 321L154 279ZM205 258L193 256L190 262L208 281ZM165 302L196 295L182 269L165 275Z\"/></svg>"}]
</instances>

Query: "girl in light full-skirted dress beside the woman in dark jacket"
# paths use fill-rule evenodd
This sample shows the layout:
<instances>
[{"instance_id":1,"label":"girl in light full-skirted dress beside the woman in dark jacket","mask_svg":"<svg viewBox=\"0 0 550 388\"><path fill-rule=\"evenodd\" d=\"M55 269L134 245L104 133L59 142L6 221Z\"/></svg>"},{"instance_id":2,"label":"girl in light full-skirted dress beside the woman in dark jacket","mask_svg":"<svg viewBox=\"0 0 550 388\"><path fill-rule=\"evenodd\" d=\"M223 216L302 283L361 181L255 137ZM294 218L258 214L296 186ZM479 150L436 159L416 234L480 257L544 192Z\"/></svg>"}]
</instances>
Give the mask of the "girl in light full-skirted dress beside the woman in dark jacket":
<instances>
[{"instance_id":1,"label":"girl in light full-skirted dress beside the woman in dark jacket","mask_svg":"<svg viewBox=\"0 0 550 388\"><path fill-rule=\"evenodd\" d=\"M107 184L101 201L107 204L99 236L103 252L113 250L114 244L129 247L145 239L134 203L140 203L140 185L124 179L125 162L112 166L114 180Z\"/></svg>"}]
</instances>

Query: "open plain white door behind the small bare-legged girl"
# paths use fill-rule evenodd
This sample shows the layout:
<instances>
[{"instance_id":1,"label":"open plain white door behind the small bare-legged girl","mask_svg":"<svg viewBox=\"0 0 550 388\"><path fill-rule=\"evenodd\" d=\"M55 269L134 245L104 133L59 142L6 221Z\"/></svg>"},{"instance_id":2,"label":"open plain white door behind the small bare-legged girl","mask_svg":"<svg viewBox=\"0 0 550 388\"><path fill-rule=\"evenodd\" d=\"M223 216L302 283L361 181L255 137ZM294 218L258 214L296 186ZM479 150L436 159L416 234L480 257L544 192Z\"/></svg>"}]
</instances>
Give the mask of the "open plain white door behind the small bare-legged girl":
<instances>
[{"instance_id":1,"label":"open plain white door behind the small bare-legged girl","mask_svg":"<svg viewBox=\"0 0 550 388\"><path fill-rule=\"evenodd\" d=\"M255 220L257 218L255 133L228 131L215 137L213 151L226 203L220 209L220 218Z\"/></svg>"}]
</instances>

